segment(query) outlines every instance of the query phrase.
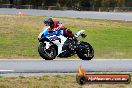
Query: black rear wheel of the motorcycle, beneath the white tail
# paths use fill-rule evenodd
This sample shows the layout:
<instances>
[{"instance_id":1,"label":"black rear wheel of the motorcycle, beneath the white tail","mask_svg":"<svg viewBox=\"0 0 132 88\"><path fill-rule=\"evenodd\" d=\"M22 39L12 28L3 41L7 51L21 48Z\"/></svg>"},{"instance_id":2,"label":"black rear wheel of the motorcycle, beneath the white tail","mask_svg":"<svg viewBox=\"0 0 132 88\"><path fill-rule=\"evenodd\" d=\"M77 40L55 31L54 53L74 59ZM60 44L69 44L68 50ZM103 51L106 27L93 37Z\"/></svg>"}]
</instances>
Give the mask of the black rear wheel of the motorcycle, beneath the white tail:
<instances>
[{"instance_id":1,"label":"black rear wheel of the motorcycle, beneath the white tail","mask_svg":"<svg viewBox=\"0 0 132 88\"><path fill-rule=\"evenodd\" d=\"M94 49L87 42L81 42L80 48L77 50L77 55L82 60L91 60L94 57Z\"/></svg>"}]
</instances>

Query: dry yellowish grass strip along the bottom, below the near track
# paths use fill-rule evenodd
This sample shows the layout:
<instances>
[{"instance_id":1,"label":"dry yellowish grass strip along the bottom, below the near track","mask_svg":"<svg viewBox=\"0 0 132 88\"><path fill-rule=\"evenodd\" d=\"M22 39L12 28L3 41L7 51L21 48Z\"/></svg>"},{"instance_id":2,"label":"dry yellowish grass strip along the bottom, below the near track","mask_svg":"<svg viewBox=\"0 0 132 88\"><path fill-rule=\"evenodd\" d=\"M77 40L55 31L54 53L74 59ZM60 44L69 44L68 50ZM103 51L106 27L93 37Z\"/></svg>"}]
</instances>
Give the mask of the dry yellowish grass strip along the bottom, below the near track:
<instances>
[{"instance_id":1,"label":"dry yellowish grass strip along the bottom, below the near track","mask_svg":"<svg viewBox=\"0 0 132 88\"><path fill-rule=\"evenodd\" d=\"M132 88L132 83L85 84L81 86L76 82L76 75L45 75L0 77L0 88Z\"/></svg>"}]
</instances>

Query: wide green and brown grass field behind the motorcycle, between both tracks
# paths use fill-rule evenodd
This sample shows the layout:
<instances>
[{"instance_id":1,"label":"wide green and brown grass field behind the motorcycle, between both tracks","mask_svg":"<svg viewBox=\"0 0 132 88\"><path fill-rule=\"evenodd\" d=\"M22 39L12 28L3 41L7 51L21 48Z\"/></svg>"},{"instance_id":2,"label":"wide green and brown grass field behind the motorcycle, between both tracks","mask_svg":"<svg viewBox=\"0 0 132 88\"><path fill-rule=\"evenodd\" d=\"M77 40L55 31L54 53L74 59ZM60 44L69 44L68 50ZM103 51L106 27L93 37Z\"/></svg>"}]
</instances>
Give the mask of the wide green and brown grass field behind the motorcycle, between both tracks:
<instances>
[{"instance_id":1,"label":"wide green and brown grass field behind the motorcycle, between both tracks","mask_svg":"<svg viewBox=\"0 0 132 88\"><path fill-rule=\"evenodd\" d=\"M0 15L0 58L40 58L37 36L43 28L41 16ZM132 22L56 18L76 32L85 29L95 58L132 58ZM73 58L77 58L73 56Z\"/></svg>"}]
</instances>

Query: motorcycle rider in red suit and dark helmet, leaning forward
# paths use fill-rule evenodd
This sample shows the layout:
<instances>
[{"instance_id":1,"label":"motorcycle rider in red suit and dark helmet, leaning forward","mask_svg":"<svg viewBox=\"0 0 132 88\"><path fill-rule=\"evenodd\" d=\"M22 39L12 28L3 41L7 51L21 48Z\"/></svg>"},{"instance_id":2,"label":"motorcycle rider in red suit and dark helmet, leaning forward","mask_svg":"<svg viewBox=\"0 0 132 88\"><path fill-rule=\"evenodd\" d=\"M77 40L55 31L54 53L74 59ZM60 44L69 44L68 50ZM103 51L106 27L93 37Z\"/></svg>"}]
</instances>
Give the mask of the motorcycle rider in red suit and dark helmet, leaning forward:
<instances>
[{"instance_id":1,"label":"motorcycle rider in red suit and dark helmet, leaning forward","mask_svg":"<svg viewBox=\"0 0 132 88\"><path fill-rule=\"evenodd\" d=\"M52 18L46 18L44 20L44 24L46 26L50 26L50 28L48 29L49 32L63 30L63 35L65 37L72 38L72 39L76 40L72 31L70 29L67 29L66 27L64 27L62 25L62 23L60 23L59 21L55 21Z\"/></svg>"}]
</instances>

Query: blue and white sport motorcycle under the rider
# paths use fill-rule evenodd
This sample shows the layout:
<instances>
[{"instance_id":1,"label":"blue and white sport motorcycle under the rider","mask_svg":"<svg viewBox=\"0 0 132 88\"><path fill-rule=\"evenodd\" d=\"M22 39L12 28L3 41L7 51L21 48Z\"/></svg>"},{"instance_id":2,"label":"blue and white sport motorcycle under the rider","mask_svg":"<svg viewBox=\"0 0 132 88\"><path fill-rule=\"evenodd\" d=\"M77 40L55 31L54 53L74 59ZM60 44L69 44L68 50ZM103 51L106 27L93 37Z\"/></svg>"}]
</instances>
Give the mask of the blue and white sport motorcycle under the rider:
<instances>
[{"instance_id":1,"label":"blue and white sport motorcycle under the rider","mask_svg":"<svg viewBox=\"0 0 132 88\"><path fill-rule=\"evenodd\" d=\"M91 60L94 57L93 47L84 41L79 41L79 36L85 38L85 30L79 30L75 33L75 38L67 38L63 36L63 30L48 31L49 27L45 27L38 36L39 55L45 60L53 60L56 57L70 57L75 54L82 60Z\"/></svg>"}]
</instances>

